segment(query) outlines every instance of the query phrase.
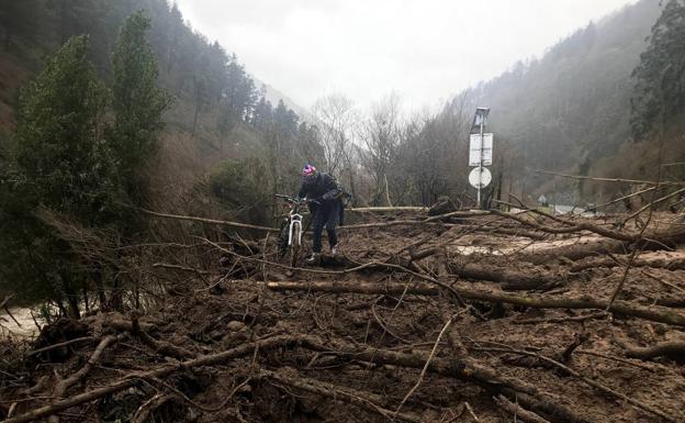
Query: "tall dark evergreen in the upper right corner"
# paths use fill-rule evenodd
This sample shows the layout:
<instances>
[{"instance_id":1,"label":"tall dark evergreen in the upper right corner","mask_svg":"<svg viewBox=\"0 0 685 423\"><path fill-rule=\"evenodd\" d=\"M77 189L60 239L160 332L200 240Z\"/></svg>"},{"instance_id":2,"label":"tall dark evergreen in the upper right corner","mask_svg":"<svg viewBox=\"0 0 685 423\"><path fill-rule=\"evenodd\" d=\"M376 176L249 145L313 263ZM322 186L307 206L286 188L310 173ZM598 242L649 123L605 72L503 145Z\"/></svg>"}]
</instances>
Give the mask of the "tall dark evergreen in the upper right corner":
<instances>
[{"instance_id":1,"label":"tall dark evergreen in the upper right corner","mask_svg":"<svg viewBox=\"0 0 685 423\"><path fill-rule=\"evenodd\" d=\"M648 136L660 118L664 121L685 110L685 5L671 0L652 26L649 46L632 71L632 133Z\"/></svg>"}]
</instances>

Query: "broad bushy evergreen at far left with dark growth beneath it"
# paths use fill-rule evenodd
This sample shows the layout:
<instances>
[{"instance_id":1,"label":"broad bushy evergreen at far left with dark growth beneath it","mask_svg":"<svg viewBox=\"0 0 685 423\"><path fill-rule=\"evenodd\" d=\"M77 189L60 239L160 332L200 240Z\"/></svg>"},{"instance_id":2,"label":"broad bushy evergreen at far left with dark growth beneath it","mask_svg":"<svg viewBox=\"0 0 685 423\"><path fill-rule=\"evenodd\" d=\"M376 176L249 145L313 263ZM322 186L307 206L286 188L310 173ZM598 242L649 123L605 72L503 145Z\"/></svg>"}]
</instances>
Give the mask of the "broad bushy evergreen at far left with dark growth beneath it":
<instances>
[{"instance_id":1,"label":"broad bushy evergreen at far left with dark growth beneath it","mask_svg":"<svg viewBox=\"0 0 685 423\"><path fill-rule=\"evenodd\" d=\"M35 218L40 205L86 224L105 219L114 191L100 142L105 91L88 62L88 37L70 38L21 93L9 169L0 178L1 280L29 297L49 296L78 316L83 275L66 243ZM9 224L11 222L11 224Z\"/></svg>"}]
</instances>

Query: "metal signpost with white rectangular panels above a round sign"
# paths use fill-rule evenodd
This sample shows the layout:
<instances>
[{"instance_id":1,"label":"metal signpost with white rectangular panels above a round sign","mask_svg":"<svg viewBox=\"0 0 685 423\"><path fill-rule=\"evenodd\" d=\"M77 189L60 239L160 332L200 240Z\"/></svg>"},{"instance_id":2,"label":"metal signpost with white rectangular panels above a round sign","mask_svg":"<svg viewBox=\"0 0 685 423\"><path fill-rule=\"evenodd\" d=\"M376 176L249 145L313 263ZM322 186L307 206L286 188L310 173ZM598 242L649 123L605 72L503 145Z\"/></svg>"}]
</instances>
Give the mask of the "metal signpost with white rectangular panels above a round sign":
<instances>
[{"instance_id":1,"label":"metal signpost with white rectangular panels above a round sign","mask_svg":"<svg viewBox=\"0 0 685 423\"><path fill-rule=\"evenodd\" d=\"M487 187L492 181L492 174L484 167L492 165L493 157L493 134L484 133L489 114L489 108L475 109L469 145L469 166L476 166L469 174L469 183L478 189L476 203L479 210L481 209L481 189ZM478 133L474 133L476 130Z\"/></svg>"}]
</instances>

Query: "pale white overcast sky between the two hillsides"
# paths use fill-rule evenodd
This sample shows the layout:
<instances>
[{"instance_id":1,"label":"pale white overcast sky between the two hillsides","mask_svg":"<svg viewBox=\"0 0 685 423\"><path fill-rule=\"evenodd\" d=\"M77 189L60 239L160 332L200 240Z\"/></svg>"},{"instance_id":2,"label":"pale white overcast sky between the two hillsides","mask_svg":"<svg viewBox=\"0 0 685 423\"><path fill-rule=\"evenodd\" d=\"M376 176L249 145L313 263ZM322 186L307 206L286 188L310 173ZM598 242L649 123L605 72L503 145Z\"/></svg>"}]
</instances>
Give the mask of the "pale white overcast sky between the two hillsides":
<instances>
[{"instance_id":1,"label":"pale white overcast sky between the two hillsides","mask_svg":"<svg viewBox=\"0 0 685 423\"><path fill-rule=\"evenodd\" d=\"M302 107L396 91L435 107L635 0L177 0L192 26Z\"/></svg>"}]
</instances>

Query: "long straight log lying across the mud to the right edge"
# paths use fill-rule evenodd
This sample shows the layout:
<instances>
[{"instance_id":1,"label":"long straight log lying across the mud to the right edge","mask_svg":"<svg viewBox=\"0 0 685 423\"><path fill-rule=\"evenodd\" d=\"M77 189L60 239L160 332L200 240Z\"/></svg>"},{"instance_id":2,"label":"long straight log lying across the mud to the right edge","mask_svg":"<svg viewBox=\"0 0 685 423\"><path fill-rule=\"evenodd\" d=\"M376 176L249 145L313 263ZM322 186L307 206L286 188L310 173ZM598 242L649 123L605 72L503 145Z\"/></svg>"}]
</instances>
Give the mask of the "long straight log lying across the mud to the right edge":
<instances>
[{"instance_id":1,"label":"long straight log lying across the mud to the right edge","mask_svg":"<svg viewBox=\"0 0 685 423\"><path fill-rule=\"evenodd\" d=\"M284 285L285 283L285 285ZM335 288L334 288L335 287ZM337 293L363 293L363 294L383 294L385 292L404 292L405 286L397 283L396 287L389 285L377 285L368 282L326 282L321 281L313 285L312 282L267 282L267 288L273 291L293 290L293 291L317 291L337 292ZM464 300L502 302L514 305L525 305L532 309L596 309L606 310L607 300L597 300L592 297L579 298L555 298L538 294L514 294L508 292L486 291L482 289L470 289L452 286L451 289ZM408 291L407 291L408 293ZM416 293L416 292L415 292ZM427 294L434 294L429 291ZM647 307L638 305L627 301L614 301L609 311L616 314L639 318L652 322L672 324L676 326L685 326L685 315L664 307Z\"/></svg>"}]
</instances>

